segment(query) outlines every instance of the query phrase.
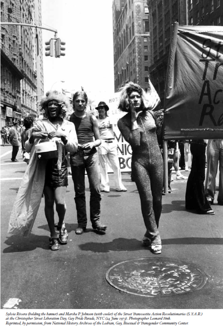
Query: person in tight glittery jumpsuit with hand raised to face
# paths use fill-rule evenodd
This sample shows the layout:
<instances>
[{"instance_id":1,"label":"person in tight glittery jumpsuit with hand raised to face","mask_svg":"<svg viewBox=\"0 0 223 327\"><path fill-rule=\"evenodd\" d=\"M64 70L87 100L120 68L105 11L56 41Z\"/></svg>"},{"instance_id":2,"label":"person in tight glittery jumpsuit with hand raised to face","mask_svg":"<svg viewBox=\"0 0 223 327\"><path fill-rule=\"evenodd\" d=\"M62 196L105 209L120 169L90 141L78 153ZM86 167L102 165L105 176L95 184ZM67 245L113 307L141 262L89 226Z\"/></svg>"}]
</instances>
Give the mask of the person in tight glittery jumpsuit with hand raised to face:
<instances>
[{"instance_id":1,"label":"person in tight glittery jumpsuit with hand raised to face","mask_svg":"<svg viewBox=\"0 0 223 327\"><path fill-rule=\"evenodd\" d=\"M152 97L133 82L128 82L120 96L119 108L127 114L118 121L118 127L131 145L131 170L139 191L141 209L146 226L142 243L152 253L161 253L158 231L162 211L163 158L160 152L155 114L153 109L159 97ZM158 130L157 130L157 128Z\"/></svg>"}]
</instances>

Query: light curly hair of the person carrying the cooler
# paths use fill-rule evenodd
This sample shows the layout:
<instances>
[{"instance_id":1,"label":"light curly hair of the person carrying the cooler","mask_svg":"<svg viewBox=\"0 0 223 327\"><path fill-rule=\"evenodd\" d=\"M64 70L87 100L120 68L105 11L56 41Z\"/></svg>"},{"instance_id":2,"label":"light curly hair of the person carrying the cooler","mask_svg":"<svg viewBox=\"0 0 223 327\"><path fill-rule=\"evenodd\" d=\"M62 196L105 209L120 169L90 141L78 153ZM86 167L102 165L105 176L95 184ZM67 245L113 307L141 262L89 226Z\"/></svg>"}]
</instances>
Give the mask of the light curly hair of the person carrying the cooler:
<instances>
[{"instance_id":1,"label":"light curly hair of the person carrying the cooler","mask_svg":"<svg viewBox=\"0 0 223 327\"><path fill-rule=\"evenodd\" d=\"M61 107L60 117L64 118L68 112L68 108L70 107L70 100L57 90L48 91L46 96L42 97L40 100L39 105L42 108L42 113L45 113L46 116L48 116L48 103L52 100L56 100L59 103Z\"/></svg>"}]
</instances>

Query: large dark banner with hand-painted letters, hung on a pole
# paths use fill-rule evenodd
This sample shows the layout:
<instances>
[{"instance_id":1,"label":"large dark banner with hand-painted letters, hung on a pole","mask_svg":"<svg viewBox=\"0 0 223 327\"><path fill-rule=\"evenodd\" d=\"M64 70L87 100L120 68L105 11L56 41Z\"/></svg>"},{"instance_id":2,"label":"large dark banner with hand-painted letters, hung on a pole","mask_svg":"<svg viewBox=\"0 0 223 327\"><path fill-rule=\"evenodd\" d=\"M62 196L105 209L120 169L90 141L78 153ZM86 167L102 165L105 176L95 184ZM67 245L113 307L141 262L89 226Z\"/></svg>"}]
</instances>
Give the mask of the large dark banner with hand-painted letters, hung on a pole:
<instances>
[{"instance_id":1,"label":"large dark banner with hand-painted letters, hung on a pole","mask_svg":"<svg viewBox=\"0 0 223 327\"><path fill-rule=\"evenodd\" d=\"M223 138L223 27L174 23L164 138Z\"/></svg>"}]
</instances>

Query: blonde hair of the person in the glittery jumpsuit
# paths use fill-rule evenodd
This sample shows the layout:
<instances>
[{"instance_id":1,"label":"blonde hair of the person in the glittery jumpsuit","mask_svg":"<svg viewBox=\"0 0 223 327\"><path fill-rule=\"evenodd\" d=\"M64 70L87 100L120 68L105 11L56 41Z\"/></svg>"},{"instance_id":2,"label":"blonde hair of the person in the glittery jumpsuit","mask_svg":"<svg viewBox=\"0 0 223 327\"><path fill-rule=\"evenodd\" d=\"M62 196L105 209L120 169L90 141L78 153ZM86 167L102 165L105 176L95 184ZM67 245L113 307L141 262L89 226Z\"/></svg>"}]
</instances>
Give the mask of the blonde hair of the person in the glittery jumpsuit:
<instances>
[{"instance_id":1,"label":"blonde hair of the person in the glittery jumpsuit","mask_svg":"<svg viewBox=\"0 0 223 327\"><path fill-rule=\"evenodd\" d=\"M138 92L141 95L142 98L142 106L144 108L149 107L149 96L146 94L144 89L133 82L128 82L126 83L123 87L120 88L121 95L120 95L120 101L119 101L119 109L121 111L126 111L128 112L129 110L129 102L128 102L128 97L130 96L131 92Z\"/></svg>"}]
</instances>

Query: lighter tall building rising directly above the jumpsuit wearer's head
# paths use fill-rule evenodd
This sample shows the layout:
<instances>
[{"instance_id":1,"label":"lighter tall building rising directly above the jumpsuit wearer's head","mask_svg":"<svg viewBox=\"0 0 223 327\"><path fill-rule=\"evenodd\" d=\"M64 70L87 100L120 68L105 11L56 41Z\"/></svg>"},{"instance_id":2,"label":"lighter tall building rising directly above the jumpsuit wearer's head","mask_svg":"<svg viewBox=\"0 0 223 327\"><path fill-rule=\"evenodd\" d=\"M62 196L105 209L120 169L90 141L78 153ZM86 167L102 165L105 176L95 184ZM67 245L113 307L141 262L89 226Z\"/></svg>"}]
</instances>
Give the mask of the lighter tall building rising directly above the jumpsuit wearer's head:
<instances>
[{"instance_id":1,"label":"lighter tall building rising directly above the jumpsuit wearer's head","mask_svg":"<svg viewBox=\"0 0 223 327\"><path fill-rule=\"evenodd\" d=\"M113 1L115 91L126 81L148 88L149 21L146 1Z\"/></svg>"}]
</instances>

